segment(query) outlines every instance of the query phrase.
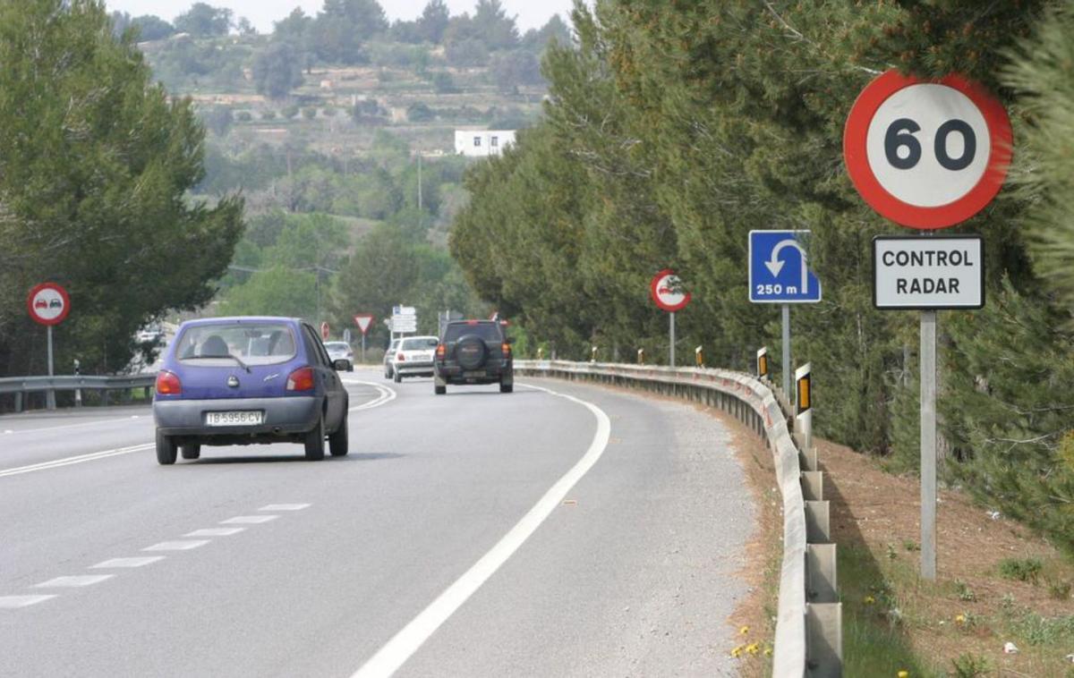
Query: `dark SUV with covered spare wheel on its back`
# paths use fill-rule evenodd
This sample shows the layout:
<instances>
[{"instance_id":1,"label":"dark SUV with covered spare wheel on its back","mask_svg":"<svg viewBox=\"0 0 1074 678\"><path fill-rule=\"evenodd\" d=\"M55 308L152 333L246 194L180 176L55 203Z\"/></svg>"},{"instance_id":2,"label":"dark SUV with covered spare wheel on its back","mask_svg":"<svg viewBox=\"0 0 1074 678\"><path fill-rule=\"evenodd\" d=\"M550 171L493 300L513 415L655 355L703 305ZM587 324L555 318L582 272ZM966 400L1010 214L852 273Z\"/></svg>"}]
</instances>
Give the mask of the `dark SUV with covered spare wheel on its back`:
<instances>
[{"instance_id":1,"label":"dark SUV with covered spare wheel on its back","mask_svg":"<svg viewBox=\"0 0 1074 678\"><path fill-rule=\"evenodd\" d=\"M448 384L499 384L499 393L514 389L512 340L499 321L464 320L448 323L433 360L436 395Z\"/></svg>"}]
</instances>

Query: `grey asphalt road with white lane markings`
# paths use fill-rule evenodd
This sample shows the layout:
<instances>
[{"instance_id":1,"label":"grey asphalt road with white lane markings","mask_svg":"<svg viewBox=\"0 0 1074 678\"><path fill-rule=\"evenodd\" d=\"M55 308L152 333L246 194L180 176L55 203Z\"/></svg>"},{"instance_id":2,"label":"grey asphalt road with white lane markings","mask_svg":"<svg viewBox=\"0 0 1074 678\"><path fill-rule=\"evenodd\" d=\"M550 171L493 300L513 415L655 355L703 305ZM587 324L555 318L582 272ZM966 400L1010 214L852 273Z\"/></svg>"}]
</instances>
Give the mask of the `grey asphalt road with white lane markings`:
<instances>
[{"instance_id":1,"label":"grey asphalt road with white lane markings","mask_svg":"<svg viewBox=\"0 0 1074 678\"><path fill-rule=\"evenodd\" d=\"M724 676L755 510L693 408L348 374L347 457L0 417L0 675Z\"/></svg>"}]
</instances>

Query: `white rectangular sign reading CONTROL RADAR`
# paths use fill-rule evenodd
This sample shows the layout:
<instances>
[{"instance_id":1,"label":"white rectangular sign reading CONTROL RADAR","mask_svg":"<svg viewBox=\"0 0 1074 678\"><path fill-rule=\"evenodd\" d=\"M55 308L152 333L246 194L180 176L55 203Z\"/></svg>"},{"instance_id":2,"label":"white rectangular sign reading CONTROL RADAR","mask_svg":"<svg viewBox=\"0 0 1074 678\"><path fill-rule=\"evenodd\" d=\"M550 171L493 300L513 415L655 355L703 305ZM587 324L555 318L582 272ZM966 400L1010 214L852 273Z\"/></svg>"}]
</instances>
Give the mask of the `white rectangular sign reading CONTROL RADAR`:
<instances>
[{"instance_id":1,"label":"white rectangular sign reading CONTROL RADAR","mask_svg":"<svg viewBox=\"0 0 1074 678\"><path fill-rule=\"evenodd\" d=\"M974 309L985 305L985 245L977 235L873 238L879 309Z\"/></svg>"}]
</instances>

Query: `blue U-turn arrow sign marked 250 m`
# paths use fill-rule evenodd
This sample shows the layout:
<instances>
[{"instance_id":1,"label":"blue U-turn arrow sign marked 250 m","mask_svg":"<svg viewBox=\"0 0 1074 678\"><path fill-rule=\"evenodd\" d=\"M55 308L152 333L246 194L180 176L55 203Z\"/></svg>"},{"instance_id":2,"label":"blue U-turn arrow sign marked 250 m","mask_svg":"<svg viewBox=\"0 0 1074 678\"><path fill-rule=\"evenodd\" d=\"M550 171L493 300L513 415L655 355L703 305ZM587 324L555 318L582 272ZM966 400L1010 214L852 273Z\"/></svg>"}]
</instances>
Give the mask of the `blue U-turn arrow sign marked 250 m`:
<instances>
[{"instance_id":1,"label":"blue U-turn arrow sign marked 250 m","mask_svg":"<svg viewBox=\"0 0 1074 678\"><path fill-rule=\"evenodd\" d=\"M750 300L816 304L821 280L809 269L803 242L809 231L750 232Z\"/></svg>"}]
</instances>

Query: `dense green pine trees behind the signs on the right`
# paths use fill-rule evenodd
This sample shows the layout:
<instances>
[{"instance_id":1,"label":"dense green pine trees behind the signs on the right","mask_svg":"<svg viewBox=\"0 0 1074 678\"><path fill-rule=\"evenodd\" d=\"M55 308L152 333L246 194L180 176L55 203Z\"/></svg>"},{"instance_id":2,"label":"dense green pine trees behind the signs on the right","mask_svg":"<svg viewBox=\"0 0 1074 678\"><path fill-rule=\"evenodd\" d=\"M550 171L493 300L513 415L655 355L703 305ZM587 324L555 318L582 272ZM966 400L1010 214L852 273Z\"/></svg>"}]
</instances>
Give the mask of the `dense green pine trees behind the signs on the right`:
<instances>
[{"instance_id":1,"label":"dense green pine trees behind the signs on the right","mask_svg":"<svg viewBox=\"0 0 1074 678\"><path fill-rule=\"evenodd\" d=\"M817 425L857 449L914 458L917 318L871 299L871 238L898 227L853 189L842 130L888 68L962 72L998 93L1028 143L1015 149L1024 187L956 229L986 239L989 306L941 315L949 472L982 498L1002 489L1007 513L1070 547L1058 461L1074 392L1059 328L1070 303L1057 308L1036 277L1056 271L1063 290L1071 270L1070 4L579 3L576 43L545 56L545 120L468 174L451 251L482 298L576 358L591 342L666 355L667 319L647 285L676 268L694 294L677 319L680 353L703 344L743 369L759 345L780 353L778 309L748 300L748 233L809 229L825 299L794 309L793 348L813 363Z\"/></svg>"}]
</instances>

